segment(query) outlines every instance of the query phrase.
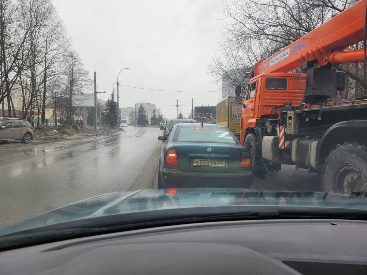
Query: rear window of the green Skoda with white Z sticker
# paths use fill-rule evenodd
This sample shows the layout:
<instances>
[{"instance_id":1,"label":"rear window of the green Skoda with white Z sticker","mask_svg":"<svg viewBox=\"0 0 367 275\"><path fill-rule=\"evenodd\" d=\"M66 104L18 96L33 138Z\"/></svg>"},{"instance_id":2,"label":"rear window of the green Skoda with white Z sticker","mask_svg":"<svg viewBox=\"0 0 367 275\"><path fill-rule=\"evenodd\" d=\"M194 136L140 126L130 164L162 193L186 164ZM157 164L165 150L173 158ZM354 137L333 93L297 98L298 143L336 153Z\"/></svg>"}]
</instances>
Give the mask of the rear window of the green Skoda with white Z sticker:
<instances>
[{"instance_id":1,"label":"rear window of the green Skoda with white Z sticker","mask_svg":"<svg viewBox=\"0 0 367 275\"><path fill-rule=\"evenodd\" d=\"M204 126L182 126L175 133L174 142L215 142L236 143L226 128Z\"/></svg>"}]
</instances>

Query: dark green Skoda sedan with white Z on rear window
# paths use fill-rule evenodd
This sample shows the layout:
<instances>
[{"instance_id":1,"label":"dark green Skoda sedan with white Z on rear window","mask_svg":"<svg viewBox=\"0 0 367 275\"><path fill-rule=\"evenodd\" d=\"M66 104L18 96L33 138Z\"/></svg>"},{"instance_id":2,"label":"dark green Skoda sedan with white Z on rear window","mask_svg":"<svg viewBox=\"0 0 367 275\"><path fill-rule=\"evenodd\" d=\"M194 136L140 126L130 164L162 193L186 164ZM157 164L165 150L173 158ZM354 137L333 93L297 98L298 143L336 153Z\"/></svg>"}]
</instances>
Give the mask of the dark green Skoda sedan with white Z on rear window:
<instances>
[{"instance_id":1,"label":"dark green Skoda sedan with white Z on rear window","mask_svg":"<svg viewBox=\"0 0 367 275\"><path fill-rule=\"evenodd\" d=\"M159 158L158 188L249 188L251 157L228 128L215 124L179 123Z\"/></svg>"}]
</instances>

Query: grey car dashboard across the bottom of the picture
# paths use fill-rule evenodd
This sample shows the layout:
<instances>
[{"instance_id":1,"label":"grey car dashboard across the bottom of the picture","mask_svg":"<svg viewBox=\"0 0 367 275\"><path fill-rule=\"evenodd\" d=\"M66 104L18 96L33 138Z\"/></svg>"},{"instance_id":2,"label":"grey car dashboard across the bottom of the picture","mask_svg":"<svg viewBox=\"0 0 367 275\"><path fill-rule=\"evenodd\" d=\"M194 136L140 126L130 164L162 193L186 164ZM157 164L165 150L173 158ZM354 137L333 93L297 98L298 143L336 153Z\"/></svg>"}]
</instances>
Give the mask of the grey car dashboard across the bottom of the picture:
<instances>
[{"instance_id":1,"label":"grey car dashboard across the bottom of the picture","mask_svg":"<svg viewBox=\"0 0 367 275\"><path fill-rule=\"evenodd\" d=\"M367 222L239 220L153 227L0 252L1 274L366 274Z\"/></svg>"}]
</instances>

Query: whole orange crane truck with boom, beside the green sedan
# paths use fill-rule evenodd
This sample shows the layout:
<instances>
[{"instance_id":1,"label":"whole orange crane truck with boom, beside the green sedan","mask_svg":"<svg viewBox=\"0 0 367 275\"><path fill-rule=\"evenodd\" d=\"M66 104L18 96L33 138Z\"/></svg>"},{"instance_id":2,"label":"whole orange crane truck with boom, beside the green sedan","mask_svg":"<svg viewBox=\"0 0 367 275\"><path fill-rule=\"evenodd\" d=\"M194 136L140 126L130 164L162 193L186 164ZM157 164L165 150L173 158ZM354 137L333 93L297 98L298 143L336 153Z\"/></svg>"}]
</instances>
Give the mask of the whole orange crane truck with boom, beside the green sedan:
<instances>
[{"instance_id":1,"label":"whole orange crane truck with boom, beside the green sedan","mask_svg":"<svg viewBox=\"0 0 367 275\"><path fill-rule=\"evenodd\" d=\"M367 100L339 100L345 73L332 67L367 63L366 5L357 2L255 64L240 120L255 175L291 164L321 174L324 191L367 195ZM346 50L360 41L363 48ZM288 73L299 67L305 73Z\"/></svg>"}]
</instances>

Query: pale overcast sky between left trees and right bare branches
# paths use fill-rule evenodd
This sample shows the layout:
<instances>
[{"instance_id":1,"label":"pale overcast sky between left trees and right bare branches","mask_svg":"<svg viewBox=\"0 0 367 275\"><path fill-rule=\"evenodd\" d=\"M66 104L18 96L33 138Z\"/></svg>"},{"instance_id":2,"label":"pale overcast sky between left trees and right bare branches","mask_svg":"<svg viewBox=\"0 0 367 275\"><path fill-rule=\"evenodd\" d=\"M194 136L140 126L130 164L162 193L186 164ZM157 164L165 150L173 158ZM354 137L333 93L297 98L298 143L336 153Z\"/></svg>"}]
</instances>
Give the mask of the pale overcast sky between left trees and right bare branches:
<instances>
[{"instance_id":1,"label":"pale overcast sky between left trees and right bare branches","mask_svg":"<svg viewBox=\"0 0 367 275\"><path fill-rule=\"evenodd\" d=\"M167 118L194 106L215 106L221 85L207 74L218 53L223 21L222 0L55 0L73 48L85 69L97 72L98 91L110 94L119 75L121 85L207 93L155 92L121 87L120 107L136 102L157 105ZM116 87L116 85L115 85ZM92 91L91 91L92 92ZM107 95L106 93L106 95ZM98 97L101 94L98 95ZM102 96L102 95L101 95ZM106 97L103 98L104 100Z\"/></svg>"}]
</instances>

